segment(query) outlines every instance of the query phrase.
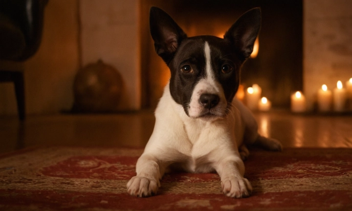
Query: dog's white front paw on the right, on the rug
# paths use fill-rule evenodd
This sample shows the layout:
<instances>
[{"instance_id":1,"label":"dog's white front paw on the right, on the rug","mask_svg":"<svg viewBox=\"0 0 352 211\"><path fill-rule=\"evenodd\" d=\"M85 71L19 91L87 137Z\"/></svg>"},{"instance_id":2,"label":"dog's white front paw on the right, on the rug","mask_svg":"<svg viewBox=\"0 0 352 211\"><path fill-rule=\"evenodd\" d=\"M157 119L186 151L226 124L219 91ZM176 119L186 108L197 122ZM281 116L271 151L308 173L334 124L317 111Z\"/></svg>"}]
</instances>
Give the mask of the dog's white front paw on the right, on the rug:
<instances>
[{"instance_id":1,"label":"dog's white front paw on the right, on the rug","mask_svg":"<svg viewBox=\"0 0 352 211\"><path fill-rule=\"evenodd\" d=\"M252 186L246 178L232 177L221 181L222 192L232 198L245 198L251 195Z\"/></svg>"}]
</instances>

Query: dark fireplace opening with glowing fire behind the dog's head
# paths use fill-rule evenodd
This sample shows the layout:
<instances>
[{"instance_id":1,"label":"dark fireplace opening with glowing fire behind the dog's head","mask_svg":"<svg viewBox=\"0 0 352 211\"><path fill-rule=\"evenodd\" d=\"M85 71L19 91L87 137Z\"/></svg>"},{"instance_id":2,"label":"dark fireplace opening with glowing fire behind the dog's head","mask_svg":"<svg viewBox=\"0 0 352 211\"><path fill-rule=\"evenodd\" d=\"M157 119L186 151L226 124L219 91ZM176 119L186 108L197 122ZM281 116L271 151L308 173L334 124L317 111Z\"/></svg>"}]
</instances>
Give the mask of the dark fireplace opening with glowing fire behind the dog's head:
<instances>
[{"instance_id":1,"label":"dark fireplace opening with glowing fire behind the dog's head","mask_svg":"<svg viewBox=\"0 0 352 211\"><path fill-rule=\"evenodd\" d=\"M302 0L142 0L141 75L142 107L154 108L167 84L170 71L154 52L149 32L149 9L165 10L189 37L222 37L247 10L262 9L259 52L244 63L241 84L258 84L273 107L288 108L289 96L303 88Z\"/></svg>"}]
</instances>

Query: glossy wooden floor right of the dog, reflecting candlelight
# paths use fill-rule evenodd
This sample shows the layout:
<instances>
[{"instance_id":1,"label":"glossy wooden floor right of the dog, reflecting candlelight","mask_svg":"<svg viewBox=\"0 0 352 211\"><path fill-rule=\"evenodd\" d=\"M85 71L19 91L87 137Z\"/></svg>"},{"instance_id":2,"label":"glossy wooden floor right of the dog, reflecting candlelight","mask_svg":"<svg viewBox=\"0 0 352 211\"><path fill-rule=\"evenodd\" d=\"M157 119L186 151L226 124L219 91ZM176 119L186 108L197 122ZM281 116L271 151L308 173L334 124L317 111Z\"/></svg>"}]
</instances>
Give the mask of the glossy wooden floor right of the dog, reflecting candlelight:
<instances>
[{"instance_id":1,"label":"glossy wooden floor right of the dog, reflecting candlelight","mask_svg":"<svg viewBox=\"0 0 352 211\"><path fill-rule=\"evenodd\" d=\"M352 148L352 116L255 113L259 132L284 147Z\"/></svg>"}]
</instances>

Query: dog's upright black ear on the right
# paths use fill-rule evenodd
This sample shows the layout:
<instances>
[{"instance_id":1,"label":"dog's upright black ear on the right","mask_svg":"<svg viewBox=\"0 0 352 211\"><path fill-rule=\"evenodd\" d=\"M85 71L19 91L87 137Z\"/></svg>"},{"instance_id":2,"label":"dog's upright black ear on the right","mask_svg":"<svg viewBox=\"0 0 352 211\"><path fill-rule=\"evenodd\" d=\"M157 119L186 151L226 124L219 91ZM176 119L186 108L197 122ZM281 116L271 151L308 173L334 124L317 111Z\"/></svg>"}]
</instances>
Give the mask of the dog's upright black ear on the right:
<instances>
[{"instance_id":1,"label":"dog's upright black ear on the right","mask_svg":"<svg viewBox=\"0 0 352 211\"><path fill-rule=\"evenodd\" d=\"M261 27L261 9L254 8L244 13L225 33L224 39L231 42L246 60L253 51L253 45Z\"/></svg>"}]
</instances>

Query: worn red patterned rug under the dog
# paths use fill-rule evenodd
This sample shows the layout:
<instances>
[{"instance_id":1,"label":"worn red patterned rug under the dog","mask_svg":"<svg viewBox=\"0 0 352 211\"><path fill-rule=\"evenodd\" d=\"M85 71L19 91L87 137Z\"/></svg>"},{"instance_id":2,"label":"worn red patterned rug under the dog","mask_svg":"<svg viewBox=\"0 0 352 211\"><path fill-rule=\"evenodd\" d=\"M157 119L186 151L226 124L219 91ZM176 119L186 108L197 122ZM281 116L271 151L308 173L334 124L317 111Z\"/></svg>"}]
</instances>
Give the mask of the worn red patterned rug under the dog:
<instances>
[{"instance_id":1,"label":"worn red patterned rug under the dog","mask_svg":"<svg viewBox=\"0 0 352 211\"><path fill-rule=\"evenodd\" d=\"M220 190L217 174L164 176L156 196L136 198L126 183L142 149L45 148L0 156L0 210L352 210L352 149L255 150L249 198Z\"/></svg>"}]
</instances>

